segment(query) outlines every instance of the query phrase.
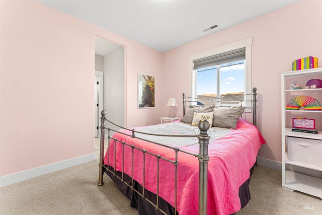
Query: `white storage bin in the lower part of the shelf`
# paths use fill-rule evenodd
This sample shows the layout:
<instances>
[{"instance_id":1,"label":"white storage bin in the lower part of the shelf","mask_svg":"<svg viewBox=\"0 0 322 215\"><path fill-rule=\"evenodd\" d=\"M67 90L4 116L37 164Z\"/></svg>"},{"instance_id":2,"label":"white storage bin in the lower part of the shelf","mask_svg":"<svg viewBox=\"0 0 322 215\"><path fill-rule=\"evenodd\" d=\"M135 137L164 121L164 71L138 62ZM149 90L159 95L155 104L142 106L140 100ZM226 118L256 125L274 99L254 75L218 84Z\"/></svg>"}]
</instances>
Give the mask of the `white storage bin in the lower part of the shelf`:
<instances>
[{"instance_id":1,"label":"white storage bin in the lower part of the shelf","mask_svg":"<svg viewBox=\"0 0 322 215\"><path fill-rule=\"evenodd\" d=\"M288 160L322 167L322 140L292 136L286 138Z\"/></svg>"}]
</instances>

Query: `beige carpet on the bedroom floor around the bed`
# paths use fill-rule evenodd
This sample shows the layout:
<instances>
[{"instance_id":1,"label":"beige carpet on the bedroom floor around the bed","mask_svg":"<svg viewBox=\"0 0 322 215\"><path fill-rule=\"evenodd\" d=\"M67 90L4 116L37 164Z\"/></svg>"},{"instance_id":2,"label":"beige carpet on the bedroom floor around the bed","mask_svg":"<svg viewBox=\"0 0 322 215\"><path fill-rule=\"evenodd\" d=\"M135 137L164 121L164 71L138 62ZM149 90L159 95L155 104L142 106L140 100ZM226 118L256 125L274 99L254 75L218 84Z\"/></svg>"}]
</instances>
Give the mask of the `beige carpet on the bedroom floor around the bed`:
<instances>
[{"instance_id":1,"label":"beige carpet on the bedroom floor around the bed","mask_svg":"<svg viewBox=\"0 0 322 215\"><path fill-rule=\"evenodd\" d=\"M137 214L111 179L102 187L97 179L92 161L3 187L0 214ZM257 167L250 186L252 199L237 215L322 214L319 198L282 189L277 170Z\"/></svg>"}]
</instances>

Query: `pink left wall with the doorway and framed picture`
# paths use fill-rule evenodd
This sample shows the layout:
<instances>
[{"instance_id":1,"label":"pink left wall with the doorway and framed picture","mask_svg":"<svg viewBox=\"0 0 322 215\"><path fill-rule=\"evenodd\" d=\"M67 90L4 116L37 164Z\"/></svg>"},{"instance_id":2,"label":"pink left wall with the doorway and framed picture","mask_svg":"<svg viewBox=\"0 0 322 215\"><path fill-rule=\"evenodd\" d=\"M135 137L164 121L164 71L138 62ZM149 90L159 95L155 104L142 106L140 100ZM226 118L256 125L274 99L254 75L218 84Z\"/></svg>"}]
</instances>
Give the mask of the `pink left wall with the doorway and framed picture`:
<instances>
[{"instance_id":1,"label":"pink left wall with the doorway and framed picture","mask_svg":"<svg viewBox=\"0 0 322 215\"><path fill-rule=\"evenodd\" d=\"M0 1L0 176L94 153L94 37L126 47L127 125L156 124L137 109L137 73L162 85L162 53L38 2Z\"/></svg>"}]
</instances>

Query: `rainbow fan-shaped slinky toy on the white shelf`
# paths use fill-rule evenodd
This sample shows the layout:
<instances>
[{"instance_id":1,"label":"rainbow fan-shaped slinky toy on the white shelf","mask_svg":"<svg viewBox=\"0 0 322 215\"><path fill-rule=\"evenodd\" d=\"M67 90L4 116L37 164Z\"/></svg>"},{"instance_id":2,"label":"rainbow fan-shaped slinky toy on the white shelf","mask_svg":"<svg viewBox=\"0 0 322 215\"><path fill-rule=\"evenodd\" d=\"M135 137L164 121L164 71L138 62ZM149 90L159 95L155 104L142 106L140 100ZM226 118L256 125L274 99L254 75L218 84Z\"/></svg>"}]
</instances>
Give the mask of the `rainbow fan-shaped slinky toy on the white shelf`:
<instances>
[{"instance_id":1,"label":"rainbow fan-shaped slinky toy on the white shelf","mask_svg":"<svg viewBox=\"0 0 322 215\"><path fill-rule=\"evenodd\" d=\"M286 110L299 110L301 107L304 107L304 110L322 110L320 102L310 96L297 96L291 99L286 105Z\"/></svg>"}]
</instances>

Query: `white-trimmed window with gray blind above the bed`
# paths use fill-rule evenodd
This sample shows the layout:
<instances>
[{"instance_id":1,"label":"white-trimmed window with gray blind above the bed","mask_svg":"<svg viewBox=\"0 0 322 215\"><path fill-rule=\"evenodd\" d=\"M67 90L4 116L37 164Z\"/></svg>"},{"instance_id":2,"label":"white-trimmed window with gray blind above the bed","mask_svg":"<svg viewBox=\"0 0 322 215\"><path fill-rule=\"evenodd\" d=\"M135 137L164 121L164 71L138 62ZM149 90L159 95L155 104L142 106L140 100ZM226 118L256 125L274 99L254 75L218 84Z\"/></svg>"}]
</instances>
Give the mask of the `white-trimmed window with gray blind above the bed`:
<instances>
[{"instance_id":1,"label":"white-trimmed window with gray blind above the bed","mask_svg":"<svg viewBox=\"0 0 322 215\"><path fill-rule=\"evenodd\" d=\"M251 95L244 94L252 93L252 43L253 39L248 38L190 55L191 96L200 100L212 100L216 105L242 103L243 106L251 107Z\"/></svg>"}]
</instances>

